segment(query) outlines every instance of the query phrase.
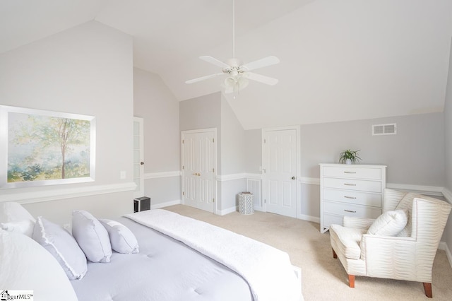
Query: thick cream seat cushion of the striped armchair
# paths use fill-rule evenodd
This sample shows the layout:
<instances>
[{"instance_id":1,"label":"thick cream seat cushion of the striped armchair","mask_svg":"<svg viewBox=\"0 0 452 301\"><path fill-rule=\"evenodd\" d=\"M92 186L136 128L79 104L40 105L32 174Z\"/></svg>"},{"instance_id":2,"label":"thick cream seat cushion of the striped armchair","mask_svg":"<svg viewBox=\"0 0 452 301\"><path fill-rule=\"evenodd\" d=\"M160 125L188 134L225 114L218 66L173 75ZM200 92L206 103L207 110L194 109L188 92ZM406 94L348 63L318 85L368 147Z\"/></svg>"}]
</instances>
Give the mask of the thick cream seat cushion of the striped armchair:
<instances>
[{"instance_id":1,"label":"thick cream seat cushion of the striped armchair","mask_svg":"<svg viewBox=\"0 0 452 301\"><path fill-rule=\"evenodd\" d=\"M336 253L342 253L348 259L359 259L361 255L361 248L359 243L361 242L362 235L367 232L365 229L358 228L346 228L341 225L330 225L330 232L335 232L335 235L331 235L331 238L335 240L338 237L336 244L340 249L335 250Z\"/></svg>"}]
</instances>

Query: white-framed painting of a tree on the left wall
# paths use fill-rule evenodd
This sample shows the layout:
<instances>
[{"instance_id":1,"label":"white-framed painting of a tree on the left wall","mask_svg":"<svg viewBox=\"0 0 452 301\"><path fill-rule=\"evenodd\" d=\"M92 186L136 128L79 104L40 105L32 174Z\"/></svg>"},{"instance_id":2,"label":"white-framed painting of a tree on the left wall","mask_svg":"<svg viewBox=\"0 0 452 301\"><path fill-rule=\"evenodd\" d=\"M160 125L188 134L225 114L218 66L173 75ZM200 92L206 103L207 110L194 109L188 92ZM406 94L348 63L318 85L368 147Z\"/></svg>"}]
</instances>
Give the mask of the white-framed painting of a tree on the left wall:
<instances>
[{"instance_id":1,"label":"white-framed painting of a tree on the left wall","mask_svg":"<svg viewBox=\"0 0 452 301\"><path fill-rule=\"evenodd\" d=\"M0 188L92 182L95 117L0 105Z\"/></svg>"}]
</instances>

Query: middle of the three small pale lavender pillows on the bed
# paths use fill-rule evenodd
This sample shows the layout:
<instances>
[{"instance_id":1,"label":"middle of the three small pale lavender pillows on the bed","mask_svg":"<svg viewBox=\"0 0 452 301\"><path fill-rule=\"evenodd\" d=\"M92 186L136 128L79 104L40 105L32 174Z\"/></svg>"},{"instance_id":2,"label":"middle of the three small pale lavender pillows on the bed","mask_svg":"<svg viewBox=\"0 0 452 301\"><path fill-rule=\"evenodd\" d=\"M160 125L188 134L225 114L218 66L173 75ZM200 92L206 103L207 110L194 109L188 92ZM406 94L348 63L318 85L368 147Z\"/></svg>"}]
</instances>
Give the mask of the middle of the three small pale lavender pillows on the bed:
<instances>
[{"instance_id":1,"label":"middle of the three small pale lavender pillows on the bed","mask_svg":"<svg viewBox=\"0 0 452 301\"><path fill-rule=\"evenodd\" d=\"M72 212L72 235L88 260L110 262L112 245L108 232L91 213L83 210Z\"/></svg>"}]
</instances>

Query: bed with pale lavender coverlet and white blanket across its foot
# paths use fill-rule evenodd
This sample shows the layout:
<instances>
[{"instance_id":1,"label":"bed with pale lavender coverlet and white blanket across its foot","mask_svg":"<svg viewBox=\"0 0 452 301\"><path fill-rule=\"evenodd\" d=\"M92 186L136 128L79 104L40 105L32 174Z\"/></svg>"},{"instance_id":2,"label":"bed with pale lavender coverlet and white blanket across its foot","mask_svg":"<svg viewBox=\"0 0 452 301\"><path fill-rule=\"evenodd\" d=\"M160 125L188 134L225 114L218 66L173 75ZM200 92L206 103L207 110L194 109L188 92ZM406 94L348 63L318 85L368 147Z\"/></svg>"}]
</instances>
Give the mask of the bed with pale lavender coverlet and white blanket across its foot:
<instances>
[{"instance_id":1,"label":"bed with pale lavender coverlet and white blanket across its foot","mask_svg":"<svg viewBox=\"0 0 452 301\"><path fill-rule=\"evenodd\" d=\"M133 233L139 251L138 248L138 252L129 254L113 251L107 262L87 261L84 275L66 281L70 287L60 283L59 288L64 291L56 295L61 298L61 294L66 294L69 296L66 300L114 301L131 298L158 301L303 300L299 268L290 264L285 252L266 244L162 209L129 214L115 222ZM37 223L42 223L40 218ZM74 229L72 231L76 237ZM0 232L0 237L8 236L5 232ZM11 235L13 232L10 231ZM27 235L22 236L23 239ZM2 244L3 251L0 248L0 260L6 260L6 242L8 240ZM40 298L42 288L20 287L20 281L11 282L9 275L4 273L3 260L0 288L10 285L9 289L34 290L36 300L58 300L49 295ZM30 262L24 262L28 269ZM49 268L48 264L46 268ZM57 275L61 282L64 276ZM71 289L73 299L71 293L66 292Z\"/></svg>"}]
</instances>

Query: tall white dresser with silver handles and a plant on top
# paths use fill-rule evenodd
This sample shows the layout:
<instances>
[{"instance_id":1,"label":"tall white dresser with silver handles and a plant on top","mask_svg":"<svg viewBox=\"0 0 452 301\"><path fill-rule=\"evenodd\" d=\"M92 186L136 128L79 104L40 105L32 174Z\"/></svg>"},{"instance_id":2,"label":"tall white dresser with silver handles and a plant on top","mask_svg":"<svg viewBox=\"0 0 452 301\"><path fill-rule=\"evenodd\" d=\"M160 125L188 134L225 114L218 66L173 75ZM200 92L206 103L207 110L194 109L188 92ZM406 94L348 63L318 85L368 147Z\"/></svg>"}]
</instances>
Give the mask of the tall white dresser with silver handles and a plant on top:
<instances>
[{"instance_id":1,"label":"tall white dresser with silver handles and a plant on top","mask_svg":"<svg viewBox=\"0 0 452 301\"><path fill-rule=\"evenodd\" d=\"M320 232L343 216L379 217L385 187L386 166L320 164Z\"/></svg>"}]
</instances>

